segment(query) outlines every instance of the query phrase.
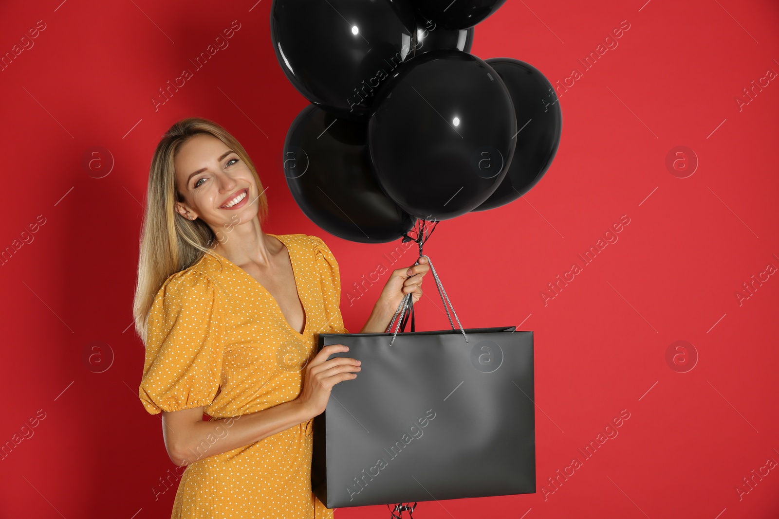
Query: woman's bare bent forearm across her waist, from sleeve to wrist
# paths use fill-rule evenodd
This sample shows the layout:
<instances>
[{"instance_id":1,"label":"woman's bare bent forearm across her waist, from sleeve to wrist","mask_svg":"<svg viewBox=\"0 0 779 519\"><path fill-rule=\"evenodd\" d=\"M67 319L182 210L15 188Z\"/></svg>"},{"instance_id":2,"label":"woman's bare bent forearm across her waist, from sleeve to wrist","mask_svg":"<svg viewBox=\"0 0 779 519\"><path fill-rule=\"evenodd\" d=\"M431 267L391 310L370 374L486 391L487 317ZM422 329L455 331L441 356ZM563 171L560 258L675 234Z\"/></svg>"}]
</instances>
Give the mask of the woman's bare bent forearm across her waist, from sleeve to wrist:
<instances>
[{"instance_id":1,"label":"woman's bare bent forearm across her waist, from sleeve to wrist","mask_svg":"<svg viewBox=\"0 0 779 519\"><path fill-rule=\"evenodd\" d=\"M205 409L162 412L167 455L179 467L253 444L312 418L298 399L248 415L208 422L203 420Z\"/></svg>"}]
</instances>

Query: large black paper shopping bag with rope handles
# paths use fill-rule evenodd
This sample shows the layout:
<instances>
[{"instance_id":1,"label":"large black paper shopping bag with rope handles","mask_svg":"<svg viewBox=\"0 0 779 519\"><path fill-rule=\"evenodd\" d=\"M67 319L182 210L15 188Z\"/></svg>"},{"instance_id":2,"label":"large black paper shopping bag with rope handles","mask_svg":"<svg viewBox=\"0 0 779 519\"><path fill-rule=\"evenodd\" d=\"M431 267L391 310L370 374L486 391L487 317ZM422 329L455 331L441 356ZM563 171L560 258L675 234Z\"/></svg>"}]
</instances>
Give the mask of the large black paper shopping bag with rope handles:
<instances>
[{"instance_id":1,"label":"large black paper shopping bag with rope handles","mask_svg":"<svg viewBox=\"0 0 779 519\"><path fill-rule=\"evenodd\" d=\"M408 310L413 330L408 303L390 329ZM362 368L314 419L312 490L326 507L536 491L533 332L452 328L319 335L320 349L349 347L330 358Z\"/></svg>"}]
</instances>

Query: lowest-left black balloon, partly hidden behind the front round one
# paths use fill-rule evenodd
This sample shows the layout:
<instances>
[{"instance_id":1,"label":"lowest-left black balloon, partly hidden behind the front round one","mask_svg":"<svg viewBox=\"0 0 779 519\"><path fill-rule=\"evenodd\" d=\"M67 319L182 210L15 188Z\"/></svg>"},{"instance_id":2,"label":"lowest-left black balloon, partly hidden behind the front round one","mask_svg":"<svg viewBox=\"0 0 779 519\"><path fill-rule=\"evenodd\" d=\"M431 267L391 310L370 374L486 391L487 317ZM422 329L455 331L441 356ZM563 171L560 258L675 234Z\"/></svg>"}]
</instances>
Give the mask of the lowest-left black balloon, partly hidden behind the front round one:
<instances>
[{"instance_id":1,"label":"lowest-left black balloon, partly hidden behind the front round one","mask_svg":"<svg viewBox=\"0 0 779 519\"><path fill-rule=\"evenodd\" d=\"M397 240L416 222L376 184L367 121L339 119L309 104L284 142L284 176L295 202L316 225L344 240Z\"/></svg>"}]
</instances>

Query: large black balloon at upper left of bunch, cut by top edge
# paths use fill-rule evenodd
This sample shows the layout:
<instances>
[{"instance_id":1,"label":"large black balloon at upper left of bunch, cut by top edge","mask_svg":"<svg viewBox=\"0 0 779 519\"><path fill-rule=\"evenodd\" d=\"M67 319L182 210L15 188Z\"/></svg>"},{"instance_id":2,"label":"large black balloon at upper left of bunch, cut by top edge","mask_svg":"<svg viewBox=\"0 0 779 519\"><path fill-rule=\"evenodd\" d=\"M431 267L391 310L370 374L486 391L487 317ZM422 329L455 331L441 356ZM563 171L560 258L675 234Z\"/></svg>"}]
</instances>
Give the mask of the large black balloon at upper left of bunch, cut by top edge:
<instances>
[{"instance_id":1,"label":"large black balloon at upper left of bunch, cut by top edge","mask_svg":"<svg viewBox=\"0 0 779 519\"><path fill-rule=\"evenodd\" d=\"M273 0L270 36L287 79L315 105L367 119L375 94L415 54L408 0Z\"/></svg>"}]
</instances>

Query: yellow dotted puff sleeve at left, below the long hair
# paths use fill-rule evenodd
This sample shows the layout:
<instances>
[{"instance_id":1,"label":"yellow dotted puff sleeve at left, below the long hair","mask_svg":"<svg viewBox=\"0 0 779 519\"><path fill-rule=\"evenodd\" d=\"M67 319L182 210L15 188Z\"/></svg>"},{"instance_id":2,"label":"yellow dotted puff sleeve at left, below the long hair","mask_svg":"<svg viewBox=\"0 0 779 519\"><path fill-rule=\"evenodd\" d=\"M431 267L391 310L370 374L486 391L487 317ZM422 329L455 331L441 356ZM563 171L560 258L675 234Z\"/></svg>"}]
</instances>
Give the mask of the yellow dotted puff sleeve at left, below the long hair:
<instances>
[{"instance_id":1,"label":"yellow dotted puff sleeve at left, below the long hair","mask_svg":"<svg viewBox=\"0 0 779 519\"><path fill-rule=\"evenodd\" d=\"M205 274L182 271L154 297L139 397L146 411L210 405L221 383L224 318L221 294Z\"/></svg>"}]
</instances>

